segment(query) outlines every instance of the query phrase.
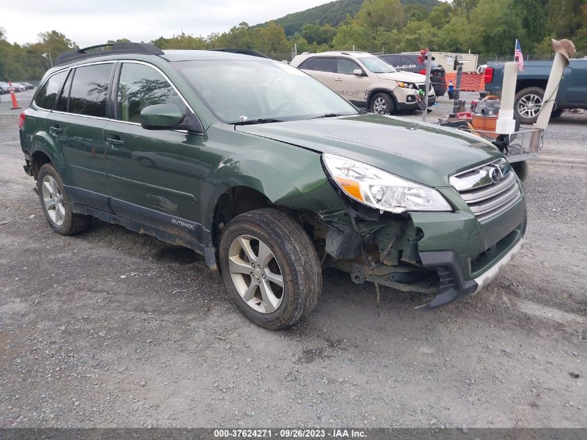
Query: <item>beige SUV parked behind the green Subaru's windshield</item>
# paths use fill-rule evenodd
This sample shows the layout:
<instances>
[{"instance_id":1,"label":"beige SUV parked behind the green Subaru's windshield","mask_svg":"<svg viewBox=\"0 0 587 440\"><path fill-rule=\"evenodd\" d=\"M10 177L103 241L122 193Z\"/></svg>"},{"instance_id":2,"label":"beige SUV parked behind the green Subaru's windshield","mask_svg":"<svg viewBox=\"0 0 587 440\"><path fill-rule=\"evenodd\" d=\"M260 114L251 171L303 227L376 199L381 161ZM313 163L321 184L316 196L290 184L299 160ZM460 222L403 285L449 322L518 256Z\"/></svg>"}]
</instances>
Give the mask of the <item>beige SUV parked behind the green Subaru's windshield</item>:
<instances>
[{"instance_id":1,"label":"beige SUV parked behind the green Subaru's windshield","mask_svg":"<svg viewBox=\"0 0 587 440\"><path fill-rule=\"evenodd\" d=\"M424 90L424 75L399 72L377 56L366 52L322 52L295 56L298 67L358 107L390 115L419 109L418 91ZM432 85L428 104L436 101Z\"/></svg>"}]
</instances>

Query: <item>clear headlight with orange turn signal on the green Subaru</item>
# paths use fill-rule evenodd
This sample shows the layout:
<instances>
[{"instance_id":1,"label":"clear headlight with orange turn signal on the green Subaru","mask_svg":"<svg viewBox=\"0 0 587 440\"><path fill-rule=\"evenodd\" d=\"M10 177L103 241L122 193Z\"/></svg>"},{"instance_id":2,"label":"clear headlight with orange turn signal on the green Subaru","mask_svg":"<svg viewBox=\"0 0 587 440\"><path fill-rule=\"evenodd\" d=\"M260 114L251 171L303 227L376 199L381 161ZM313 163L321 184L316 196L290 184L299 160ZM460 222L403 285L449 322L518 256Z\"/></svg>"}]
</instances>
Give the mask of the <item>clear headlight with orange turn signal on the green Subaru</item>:
<instances>
[{"instance_id":1,"label":"clear headlight with orange turn signal on the green Subaru","mask_svg":"<svg viewBox=\"0 0 587 440\"><path fill-rule=\"evenodd\" d=\"M437 190L394 176L379 168L334 154L323 154L336 184L349 197L382 211L452 211Z\"/></svg>"}]
</instances>

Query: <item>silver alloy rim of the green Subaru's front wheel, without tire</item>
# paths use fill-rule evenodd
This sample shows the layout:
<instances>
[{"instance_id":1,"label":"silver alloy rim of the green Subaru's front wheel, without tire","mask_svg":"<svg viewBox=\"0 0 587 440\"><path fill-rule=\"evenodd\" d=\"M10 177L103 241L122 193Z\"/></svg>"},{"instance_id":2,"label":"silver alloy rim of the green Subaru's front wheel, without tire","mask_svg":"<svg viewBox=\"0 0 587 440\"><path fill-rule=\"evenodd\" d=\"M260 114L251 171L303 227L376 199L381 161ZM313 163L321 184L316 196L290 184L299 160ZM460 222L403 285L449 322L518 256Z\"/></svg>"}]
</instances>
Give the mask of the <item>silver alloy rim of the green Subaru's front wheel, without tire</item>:
<instances>
[{"instance_id":1,"label":"silver alloy rim of the green Subaru's front wheel, without tire","mask_svg":"<svg viewBox=\"0 0 587 440\"><path fill-rule=\"evenodd\" d=\"M241 235L229 248L232 282L247 305L272 313L283 301L283 272L270 248L255 236Z\"/></svg>"}]
</instances>

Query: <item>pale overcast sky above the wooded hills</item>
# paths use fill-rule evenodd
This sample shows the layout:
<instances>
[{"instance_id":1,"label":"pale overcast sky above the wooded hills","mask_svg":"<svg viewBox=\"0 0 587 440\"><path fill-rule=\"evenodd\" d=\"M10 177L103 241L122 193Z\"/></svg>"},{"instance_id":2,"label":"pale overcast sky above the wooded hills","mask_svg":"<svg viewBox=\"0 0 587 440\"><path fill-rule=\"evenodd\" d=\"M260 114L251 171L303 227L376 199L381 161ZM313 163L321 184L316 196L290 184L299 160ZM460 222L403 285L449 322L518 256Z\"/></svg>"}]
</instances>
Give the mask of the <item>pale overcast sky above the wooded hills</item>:
<instances>
[{"instance_id":1,"label":"pale overcast sky above the wooded hills","mask_svg":"<svg viewBox=\"0 0 587 440\"><path fill-rule=\"evenodd\" d=\"M2 8L6 40L36 42L38 33L56 30L79 47L117 38L149 42L182 31L209 35L240 22L258 24L331 0L19 0ZM17 6L16 6L17 5Z\"/></svg>"}]
</instances>

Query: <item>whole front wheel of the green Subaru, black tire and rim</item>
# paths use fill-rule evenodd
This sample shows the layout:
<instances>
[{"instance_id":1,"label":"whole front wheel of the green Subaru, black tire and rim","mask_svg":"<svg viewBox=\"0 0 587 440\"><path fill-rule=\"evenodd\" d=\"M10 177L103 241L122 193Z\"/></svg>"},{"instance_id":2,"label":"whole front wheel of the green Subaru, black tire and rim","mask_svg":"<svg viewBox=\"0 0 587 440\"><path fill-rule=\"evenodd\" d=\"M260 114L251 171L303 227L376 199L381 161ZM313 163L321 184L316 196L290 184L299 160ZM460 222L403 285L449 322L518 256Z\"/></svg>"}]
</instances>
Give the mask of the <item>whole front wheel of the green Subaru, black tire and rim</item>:
<instances>
[{"instance_id":1,"label":"whole front wheel of the green Subaru, black tire and rim","mask_svg":"<svg viewBox=\"0 0 587 440\"><path fill-rule=\"evenodd\" d=\"M276 209L233 218L222 231L219 260L231 299L259 327L290 327L320 298L322 270L314 245L299 224ZM272 282L279 283L279 275L281 286Z\"/></svg>"}]
</instances>

